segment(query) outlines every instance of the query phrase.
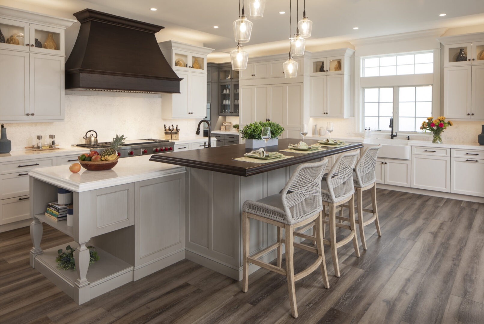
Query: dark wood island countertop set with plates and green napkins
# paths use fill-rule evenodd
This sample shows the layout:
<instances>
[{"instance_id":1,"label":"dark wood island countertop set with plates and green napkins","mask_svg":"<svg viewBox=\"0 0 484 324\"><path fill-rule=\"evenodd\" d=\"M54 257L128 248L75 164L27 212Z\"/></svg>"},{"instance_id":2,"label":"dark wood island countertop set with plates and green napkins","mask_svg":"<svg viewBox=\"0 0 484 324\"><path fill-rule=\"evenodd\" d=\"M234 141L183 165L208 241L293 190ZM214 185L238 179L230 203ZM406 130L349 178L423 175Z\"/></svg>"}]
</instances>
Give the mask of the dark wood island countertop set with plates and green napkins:
<instances>
[{"instance_id":1,"label":"dark wood island countertop set with plates and green napkins","mask_svg":"<svg viewBox=\"0 0 484 324\"><path fill-rule=\"evenodd\" d=\"M279 139L278 146L268 147L268 151L279 151L286 149L292 143L296 144L300 139L284 138ZM305 140L307 144L316 144L317 140ZM349 142L348 142L349 143ZM362 148L361 143L351 143L350 145L338 148L327 148L323 151L318 151L309 154L280 152L284 155L293 156L294 158L279 160L270 163L251 163L233 160L242 157L251 149L245 148L245 144L227 145L221 147L210 147L204 149L193 149L183 152L172 152L153 154L150 161L163 162L168 164L182 165L190 168L197 168L215 172L222 172L236 176L248 177L257 175L259 173L272 171L275 169L287 167L293 164L310 162L319 158L324 158L329 155L350 151L357 148Z\"/></svg>"}]
</instances>

